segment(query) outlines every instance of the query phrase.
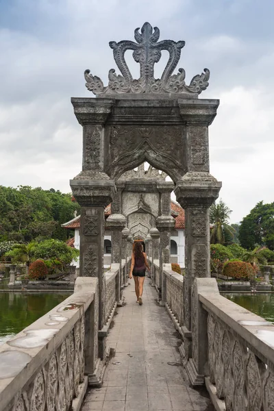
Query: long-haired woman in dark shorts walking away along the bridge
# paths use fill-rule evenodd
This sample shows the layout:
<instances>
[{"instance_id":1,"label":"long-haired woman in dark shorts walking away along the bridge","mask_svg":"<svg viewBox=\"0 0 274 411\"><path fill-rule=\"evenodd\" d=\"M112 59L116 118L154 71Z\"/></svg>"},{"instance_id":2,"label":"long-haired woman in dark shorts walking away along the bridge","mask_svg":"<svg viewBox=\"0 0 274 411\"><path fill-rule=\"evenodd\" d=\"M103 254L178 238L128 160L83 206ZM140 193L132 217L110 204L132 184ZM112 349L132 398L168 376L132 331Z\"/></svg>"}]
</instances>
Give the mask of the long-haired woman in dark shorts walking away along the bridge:
<instances>
[{"instance_id":1,"label":"long-haired woman in dark shorts walking away along the bridge","mask_svg":"<svg viewBox=\"0 0 274 411\"><path fill-rule=\"evenodd\" d=\"M142 244L136 242L132 251L132 266L130 267L129 278L134 277L135 292L137 301L142 306L142 288L145 281L146 267L150 272L149 264L147 262L147 254L142 251Z\"/></svg>"}]
</instances>

